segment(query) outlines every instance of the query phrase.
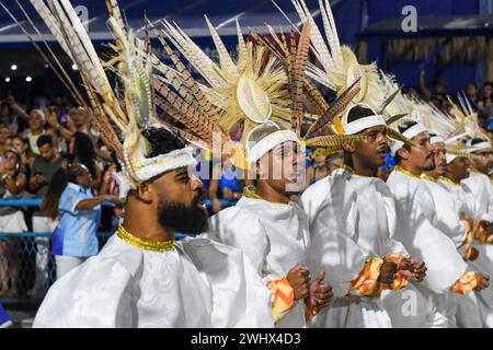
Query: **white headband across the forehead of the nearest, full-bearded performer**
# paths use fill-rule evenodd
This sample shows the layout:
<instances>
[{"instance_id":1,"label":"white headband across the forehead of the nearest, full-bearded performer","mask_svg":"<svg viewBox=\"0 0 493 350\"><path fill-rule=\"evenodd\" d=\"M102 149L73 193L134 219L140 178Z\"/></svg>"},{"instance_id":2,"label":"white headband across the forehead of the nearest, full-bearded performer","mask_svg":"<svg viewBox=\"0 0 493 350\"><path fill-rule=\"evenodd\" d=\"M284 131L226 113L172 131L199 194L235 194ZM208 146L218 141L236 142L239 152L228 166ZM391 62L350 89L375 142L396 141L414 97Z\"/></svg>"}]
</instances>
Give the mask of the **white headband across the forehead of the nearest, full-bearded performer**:
<instances>
[{"instance_id":1,"label":"white headband across the forehead of the nearest, full-bearded performer","mask_svg":"<svg viewBox=\"0 0 493 350\"><path fill-rule=\"evenodd\" d=\"M134 176L136 176L137 180L140 183L144 183L154 176L180 167L195 167L195 165L197 165L197 161L194 159L193 154L193 148L185 147L184 149L174 150L167 154L141 159L141 163L135 168ZM130 180L127 170L117 173L116 180L118 182L119 187L119 198L126 198L128 191L137 188Z\"/></svg>"}]
</instances>

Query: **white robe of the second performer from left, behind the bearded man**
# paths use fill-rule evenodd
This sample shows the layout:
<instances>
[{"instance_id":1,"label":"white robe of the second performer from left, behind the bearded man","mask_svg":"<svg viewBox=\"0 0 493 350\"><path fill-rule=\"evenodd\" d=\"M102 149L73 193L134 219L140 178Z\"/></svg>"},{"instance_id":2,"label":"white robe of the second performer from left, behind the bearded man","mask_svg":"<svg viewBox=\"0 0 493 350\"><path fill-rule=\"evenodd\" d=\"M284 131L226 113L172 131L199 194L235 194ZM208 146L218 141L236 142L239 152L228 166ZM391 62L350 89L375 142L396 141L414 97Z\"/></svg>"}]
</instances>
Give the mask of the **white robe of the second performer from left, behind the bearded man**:
<instances>
[{"instance_id":1,"label":"white robe of the second performer from left, behind the bearded man","mask_svg":"<svg viewBox=\"0 0 493 350\"><path fill-rule=\"evenodd\" d=\"M306 264L308 220L295 202L272 203L243 196L236 207L211 217L209 228L210 238L244 252L264 285L285 277L297 264ZM280 317L277 327L305 325L305 304L299 300Z\"/></svg>"}]
</instances>

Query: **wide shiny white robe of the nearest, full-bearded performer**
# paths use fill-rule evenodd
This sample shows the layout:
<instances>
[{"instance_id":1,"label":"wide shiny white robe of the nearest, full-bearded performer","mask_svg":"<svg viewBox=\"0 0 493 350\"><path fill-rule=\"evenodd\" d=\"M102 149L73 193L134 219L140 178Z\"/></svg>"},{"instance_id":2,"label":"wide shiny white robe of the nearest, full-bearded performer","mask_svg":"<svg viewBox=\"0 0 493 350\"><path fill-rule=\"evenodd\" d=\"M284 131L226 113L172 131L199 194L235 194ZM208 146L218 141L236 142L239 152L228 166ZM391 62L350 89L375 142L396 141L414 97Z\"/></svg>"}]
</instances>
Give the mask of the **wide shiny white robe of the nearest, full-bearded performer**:
<instances>
[{"instance_id":1,"label":"wide shiny white robe of the nearest, full-bearded performer","mask_svg":"<svg viewBox=\"0 0 493 350\"><path fill-rule=\"evenodd\" d=\"M238 249L186 238L150 252L114 235L51 287L34 327L272 327L268 305Z\"/></svg>"}]
</instances>

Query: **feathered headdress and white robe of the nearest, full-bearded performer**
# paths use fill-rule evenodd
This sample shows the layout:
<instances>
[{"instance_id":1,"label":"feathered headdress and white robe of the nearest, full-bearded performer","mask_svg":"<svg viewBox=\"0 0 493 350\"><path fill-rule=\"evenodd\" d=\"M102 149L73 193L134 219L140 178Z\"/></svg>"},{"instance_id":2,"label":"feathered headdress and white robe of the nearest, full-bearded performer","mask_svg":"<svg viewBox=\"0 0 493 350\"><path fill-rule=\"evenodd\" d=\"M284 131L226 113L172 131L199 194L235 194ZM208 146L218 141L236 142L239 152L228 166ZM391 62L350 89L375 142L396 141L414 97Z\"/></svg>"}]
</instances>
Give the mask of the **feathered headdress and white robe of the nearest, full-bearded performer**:
<instances>
[{"instance_id":1,"label":"feathered headdress and white robe of the nearest, full-bearded performer","mask_svg":"<svg viewBox=\"0 0 493 350\"><path fill-rule=\"evenodd\" d=\"M134 35L115 0L108 0L114 54L104 67L69 1L49 8L36 2L35 9L79 67L91 105L80 93L71 92L81 106L93 109L91 115L103 139L115 151L122 165L117 174L121 197L126 198L130 190L165 172L193 171L196 161L191 147L148 156L158 151L154 148L159 141L148 139L146 132L152 137L165 128L161 137L187 139L211 148L213 133L221 130L215 118L221 112L213 110L208 98L216 94L205 96L191 75L185 85L181 79L173 80L180 84L175 92L161 84L157 71L170 68ZM164 39L162 44L182 77L190 74ZM118 79L117 92L110 84L106 70ZM192 131L162 120L157 124L158 105ZM227 142L227 133L221 136L221 142ZM270 291L241 250L203 238L148 242L121 226L98 256L51 287L34 325L272 327L270 306Z\"/></svg>"}]
</instances>

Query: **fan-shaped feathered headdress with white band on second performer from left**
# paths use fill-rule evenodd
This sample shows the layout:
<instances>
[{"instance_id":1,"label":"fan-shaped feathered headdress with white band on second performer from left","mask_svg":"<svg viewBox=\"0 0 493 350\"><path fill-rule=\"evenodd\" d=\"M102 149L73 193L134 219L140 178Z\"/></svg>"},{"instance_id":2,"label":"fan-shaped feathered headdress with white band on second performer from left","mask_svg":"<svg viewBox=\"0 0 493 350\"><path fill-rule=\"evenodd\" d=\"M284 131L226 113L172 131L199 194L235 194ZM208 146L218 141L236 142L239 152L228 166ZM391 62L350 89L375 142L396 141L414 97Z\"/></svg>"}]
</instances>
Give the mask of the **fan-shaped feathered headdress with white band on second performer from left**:
<instances>
[{"instance_id":1,"label":"fan-shaped feathered headdress with white band on second performer from left","mask_svg":"<svg viewBox=\"0 0 493 350\"><path fill-rule=\"evenodd\" d=\"M266 45L255 45L253 42L245 44L237 22L238 52L233 59L207 18L206 21L219 52L219 62L208 58L176 24L167 21L162 24L168 39L207 82L200 89L220 110L217 122L221 129L228 133L232 127L241 125L241 142L236 153L243 154L245 162L237 156L236 164L248 167L270 149L286 141L302 143L303 95L308 93L314 96L320 106L325 107L320 93L308 83L305 75L311 26L303 25L298 44L294 35L288 44L284 34L279 39L274 33L282 45L279 54ZM265 44L259 36L254 37ZM321 130L328 125L332 119L331 110L336 110L340 104L324 109L314 130ZM263 138L260 139L260 135ZM334 147L341 140L325 136L309 142Z\"/></svg>"}]
</instances>

